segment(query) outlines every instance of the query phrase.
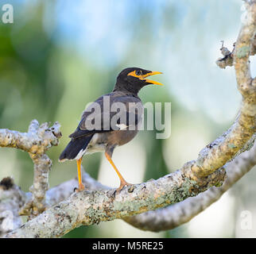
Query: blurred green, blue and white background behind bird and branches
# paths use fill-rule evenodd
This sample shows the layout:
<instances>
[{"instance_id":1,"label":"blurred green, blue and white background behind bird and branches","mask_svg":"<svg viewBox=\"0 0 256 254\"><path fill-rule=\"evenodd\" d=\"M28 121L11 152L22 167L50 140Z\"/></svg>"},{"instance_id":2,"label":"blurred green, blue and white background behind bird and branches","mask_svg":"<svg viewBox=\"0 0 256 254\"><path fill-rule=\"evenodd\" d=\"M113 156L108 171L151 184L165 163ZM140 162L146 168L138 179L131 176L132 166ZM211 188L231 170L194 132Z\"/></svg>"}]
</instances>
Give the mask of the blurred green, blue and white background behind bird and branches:
<instances>
[{"instance_id":1,"label":"blurred green, blue and white background behind bird and branches","mask_svg":"<svg viewBox=\"0 0 256 254\"><path fill-rule=\"evenodd\" d=\"M5 3L14 6L14 24L1 20ZM175 171L195 160L239 110L234 68L220 69L215 60L221 40L232 49L241 6L241 0L1 1L0 128L26 132L34 118L60 122L60 145L48 151L53 187L76 177L76 163L60 164L58 156L87 103L110 92L125 67L162 71L155 80L165 86L145 87L139 95L144 103L172 102L171 137L157 140L154 131L141 131L114 151L113 160L130 183ZM86 156L83 167L99 182L118 187L103 154ZM7 175L29 191L33 164L26 152L0 148L0 179ZM65 237L256 237L255 224L250 230L240 226L242 211L256 217L255 180L252 170L218 202L170 231L143 232L116 220Z\"/></svg>"}]
</instances>

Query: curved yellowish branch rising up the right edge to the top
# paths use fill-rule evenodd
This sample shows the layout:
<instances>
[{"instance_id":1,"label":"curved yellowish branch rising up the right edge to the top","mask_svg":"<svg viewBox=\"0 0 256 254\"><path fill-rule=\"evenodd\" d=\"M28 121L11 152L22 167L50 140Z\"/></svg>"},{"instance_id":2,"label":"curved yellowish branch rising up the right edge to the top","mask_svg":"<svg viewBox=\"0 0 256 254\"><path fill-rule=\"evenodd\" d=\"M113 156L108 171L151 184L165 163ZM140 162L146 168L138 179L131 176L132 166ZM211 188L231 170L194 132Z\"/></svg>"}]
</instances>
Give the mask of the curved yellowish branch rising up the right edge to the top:
<instances>
[{"instance_id":1,"label":"curved yellowish branch rising up the right edge to the top","mask_svg":"<svg viewBox=\"0 0 256 254\"><path fill-rule=\"evenodd\" d=\"M204 148L192 165L197 177L209 175L223 167L250 140L256 130L256 87L250 77L250 44L256 30L256 0L245 2L246 17L243 19L239 37L235 43L235 75L242 94L239 117L226 133Z\"/></svg>"}]
</instances>

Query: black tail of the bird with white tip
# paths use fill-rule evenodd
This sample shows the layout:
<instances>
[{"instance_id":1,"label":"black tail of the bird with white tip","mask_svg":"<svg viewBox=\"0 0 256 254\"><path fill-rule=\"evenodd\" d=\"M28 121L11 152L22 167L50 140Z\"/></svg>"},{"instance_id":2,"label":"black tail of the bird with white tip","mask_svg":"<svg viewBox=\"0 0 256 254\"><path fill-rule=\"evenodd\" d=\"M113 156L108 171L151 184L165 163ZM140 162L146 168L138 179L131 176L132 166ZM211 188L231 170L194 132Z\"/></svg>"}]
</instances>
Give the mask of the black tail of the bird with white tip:
<instances>
[{"instance_id":1,"label":"black tail of the bird with white tip","mask_svg":"<svg viewBox=\"0 0 256 254\"><path fill-rule=\"evenodd\" d=\"M90 143L92 136L93 135L70 140L67 147L61 152L59 161L63 162L64 160L80 159L83 156L87 145Z\"/></svg>"}]
</instances>

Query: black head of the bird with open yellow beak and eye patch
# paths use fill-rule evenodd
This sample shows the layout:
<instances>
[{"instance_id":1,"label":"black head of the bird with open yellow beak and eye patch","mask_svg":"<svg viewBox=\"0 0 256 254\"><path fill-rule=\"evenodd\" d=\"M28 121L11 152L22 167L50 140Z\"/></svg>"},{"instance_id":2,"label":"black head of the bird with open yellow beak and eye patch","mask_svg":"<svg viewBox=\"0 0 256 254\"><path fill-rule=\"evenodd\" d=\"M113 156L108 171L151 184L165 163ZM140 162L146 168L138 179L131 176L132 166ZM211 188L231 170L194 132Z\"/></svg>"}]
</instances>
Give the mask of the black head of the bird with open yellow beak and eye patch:
<instances>
[{"instance_id":1,"label":"black head of the bird with open yellow beak and eye patch","mask_svg":"<svg viewBox=\"0 0 256 254\"><path fill-rule=\"evenodd\" d=\"M117 78L114 90L127 90L138 94L138 91L146 85L163 85L157 81L146 79L151 75L161 74L160 71L148 71L138 67L128 67L122 70Z\"/></svg>"}]
</instances>

